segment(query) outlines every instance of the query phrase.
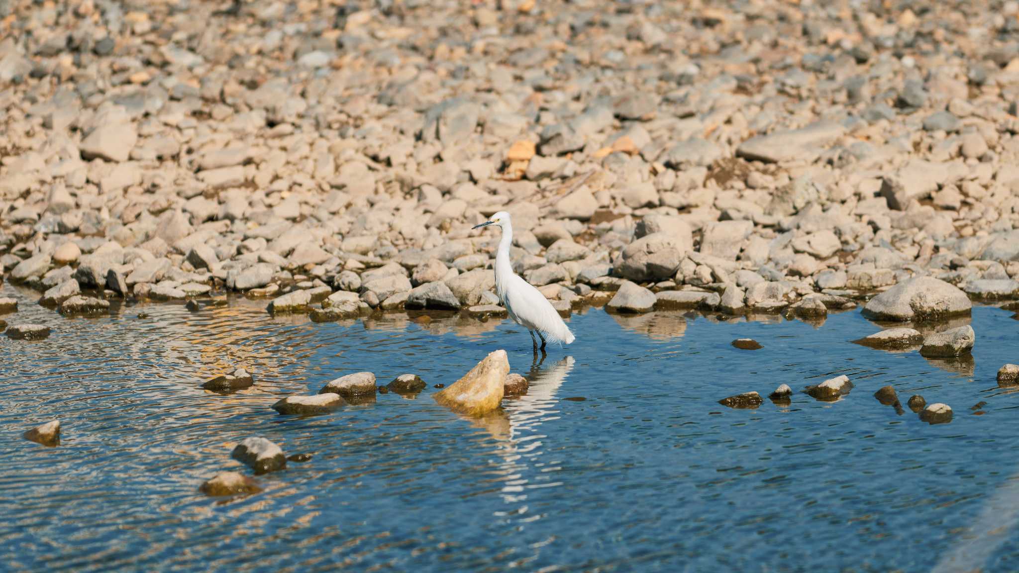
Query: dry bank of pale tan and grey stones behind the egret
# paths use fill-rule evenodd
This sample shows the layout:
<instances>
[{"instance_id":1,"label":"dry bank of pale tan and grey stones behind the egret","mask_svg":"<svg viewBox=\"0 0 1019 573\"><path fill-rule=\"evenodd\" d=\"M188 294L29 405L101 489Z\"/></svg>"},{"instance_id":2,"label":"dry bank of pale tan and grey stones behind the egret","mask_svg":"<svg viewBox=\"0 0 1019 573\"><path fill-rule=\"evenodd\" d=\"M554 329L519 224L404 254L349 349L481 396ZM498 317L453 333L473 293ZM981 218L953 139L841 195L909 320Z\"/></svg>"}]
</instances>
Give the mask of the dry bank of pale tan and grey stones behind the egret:
<instances>
[{"instance_id":1,"label":"dry bank of pale tan and grey stones behind the egret","mask_svg":"<svg viewBox=\"0 0 1019 573\"><path fill-rule=\"evenodd\" d=\"M564 313L1019 294L1014 1L222 4L0 3L10 280L484 314L507 210Z\"/></svg>"}]
</instances>

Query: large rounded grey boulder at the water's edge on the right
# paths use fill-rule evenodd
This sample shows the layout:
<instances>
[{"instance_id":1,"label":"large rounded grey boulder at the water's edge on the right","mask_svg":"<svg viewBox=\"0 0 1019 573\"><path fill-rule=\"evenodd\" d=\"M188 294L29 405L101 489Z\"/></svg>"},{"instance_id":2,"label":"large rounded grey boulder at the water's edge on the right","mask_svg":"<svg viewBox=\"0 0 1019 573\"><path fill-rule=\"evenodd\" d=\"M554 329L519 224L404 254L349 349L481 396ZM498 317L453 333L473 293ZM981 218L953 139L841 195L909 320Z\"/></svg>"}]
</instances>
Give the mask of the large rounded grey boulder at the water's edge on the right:
<instances>
[{"instance_id":1,"label":"large rounded grey boulder at the water's edge on the right","mask_svg":"<svg viewBox=\"0 0 1019 573\"><path fill-rule=\"evenodd\" d=\"M944 280L918 276L877 295L863 307L874 320L932 320L969 314L972 304L966 293Z\"/></svg>"}]
</instances>

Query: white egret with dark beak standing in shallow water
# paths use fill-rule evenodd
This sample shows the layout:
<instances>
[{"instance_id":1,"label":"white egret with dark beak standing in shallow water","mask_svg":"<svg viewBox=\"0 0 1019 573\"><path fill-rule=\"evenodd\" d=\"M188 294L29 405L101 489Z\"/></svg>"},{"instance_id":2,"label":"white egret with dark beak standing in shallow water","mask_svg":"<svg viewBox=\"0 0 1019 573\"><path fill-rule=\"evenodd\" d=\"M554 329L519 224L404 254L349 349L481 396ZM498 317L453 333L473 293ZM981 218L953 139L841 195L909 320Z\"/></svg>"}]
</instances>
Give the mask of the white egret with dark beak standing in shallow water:
<instances>
[{"instance_id":1,"label":"white egret with dark beak standing in shallow water","mask_svg":"<svg viewBox=\"0 0 1019 573\"><path fill-rule=\"evenodd\" d=\"M573 332L562 322L562 317L552 308L548 299L513 271L509 263L509 245L513 244L509 213L499 211L474 228L488 225L498 225L502 229L499 250L495 253L495 294L509 313L509 318L531 332L536 353L538 342L534 340L535 332L541 338L541 352L545 352L545 344L548 342L567 345L574 342Z\"/></svg>"}]
</instances>

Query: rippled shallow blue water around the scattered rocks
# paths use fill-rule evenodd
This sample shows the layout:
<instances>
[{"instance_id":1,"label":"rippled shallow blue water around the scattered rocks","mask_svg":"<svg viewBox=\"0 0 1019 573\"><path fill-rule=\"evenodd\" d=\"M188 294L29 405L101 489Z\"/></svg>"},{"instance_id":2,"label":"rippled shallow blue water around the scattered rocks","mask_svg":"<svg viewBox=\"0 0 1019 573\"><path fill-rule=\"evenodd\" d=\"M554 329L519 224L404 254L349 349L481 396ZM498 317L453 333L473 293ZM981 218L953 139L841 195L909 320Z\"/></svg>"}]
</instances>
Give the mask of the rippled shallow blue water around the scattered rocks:
<instances>
[{"instance_id":1,"label":"rippled shallow blue water around the scattered rocks","mask_svg":"<svg viewBox=\"0 0 1019 573\"><path fill-rule=\"evenodd\" d=\"M0 336L0 569L1019 570L1019 394L995 381L1019 362L1012 312L974 310L967 365L850 344L878 329L856 311L817 326L588 309L570 320L578 342L533 365L509 321L315 324L245 301L67 319L0 293L20 301L8 322L53 327ZM764 348L733 348L742 336ZM527 397L480 421L434 403L432 384L500 348ZM232 366L255 386L201 389ZM270 409L359 370L429 387L327 416ZM839 402L799 393L839 374L855 384ZM789 407L717 404L783 382ZM954 420L897 415L872 397L886 384ZM52 418L59 447L20 437ZM258 494L199 493L217 472L250 473L229 454L252 435L314 457L259 476Z\"/></svg>"}]
</instances>

